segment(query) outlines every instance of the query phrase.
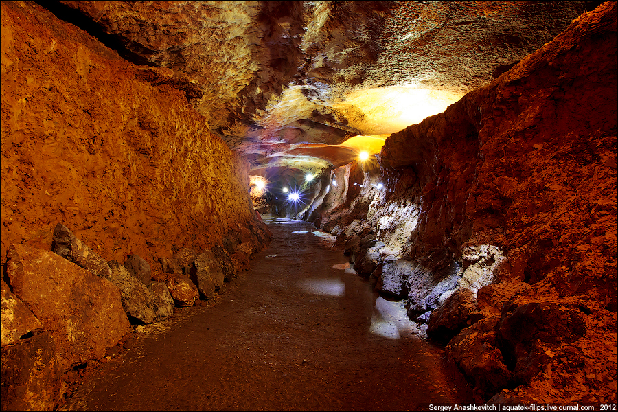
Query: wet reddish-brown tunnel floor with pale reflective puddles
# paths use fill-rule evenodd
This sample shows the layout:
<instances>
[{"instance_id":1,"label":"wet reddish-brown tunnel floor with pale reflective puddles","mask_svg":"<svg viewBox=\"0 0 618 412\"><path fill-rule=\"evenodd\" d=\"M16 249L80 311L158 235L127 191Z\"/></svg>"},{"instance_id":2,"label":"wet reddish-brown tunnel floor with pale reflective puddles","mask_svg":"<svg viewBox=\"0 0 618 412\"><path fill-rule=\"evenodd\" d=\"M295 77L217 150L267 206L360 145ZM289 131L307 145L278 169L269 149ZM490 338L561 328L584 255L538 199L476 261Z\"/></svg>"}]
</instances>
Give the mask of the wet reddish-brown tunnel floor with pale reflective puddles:
<instances>
[{"instance_id":1,"label":"wet reddish-brown tunnel floor with pale reflective puddles","mask_svg":"<svg viewBox=\"0 0 618 412\"><path fill-rule=\"evenodd\" d=\"M306 222L264 218L273 242L207 306L139 328L62 409L405 411L470 400L444 351L398 302L345 271Z\"/></svg>"}]
</instances>

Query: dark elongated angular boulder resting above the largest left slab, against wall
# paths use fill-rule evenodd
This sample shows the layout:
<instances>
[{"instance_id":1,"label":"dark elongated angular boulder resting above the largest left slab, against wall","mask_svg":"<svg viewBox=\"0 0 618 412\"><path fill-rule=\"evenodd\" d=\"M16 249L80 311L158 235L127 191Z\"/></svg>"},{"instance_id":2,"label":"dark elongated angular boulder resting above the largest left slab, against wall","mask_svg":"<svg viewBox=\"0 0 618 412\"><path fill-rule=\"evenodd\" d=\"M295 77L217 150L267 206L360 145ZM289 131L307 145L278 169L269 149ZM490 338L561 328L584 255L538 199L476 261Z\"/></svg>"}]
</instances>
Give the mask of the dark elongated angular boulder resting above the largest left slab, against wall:
<instances>
[{"instance_id":1,"label":"dark elongated angular boulder resting above the largest left slab, against wall","mask_svg":"<svg viewBox=\"0 0 618 412\"><path fill-rule=\"evenodd\" d=\"M110 269L107 261L94 253L62 223L58 223L54 229L52 251L93 275L104 277L109 275Z\"/></svg>"}]
</instances>

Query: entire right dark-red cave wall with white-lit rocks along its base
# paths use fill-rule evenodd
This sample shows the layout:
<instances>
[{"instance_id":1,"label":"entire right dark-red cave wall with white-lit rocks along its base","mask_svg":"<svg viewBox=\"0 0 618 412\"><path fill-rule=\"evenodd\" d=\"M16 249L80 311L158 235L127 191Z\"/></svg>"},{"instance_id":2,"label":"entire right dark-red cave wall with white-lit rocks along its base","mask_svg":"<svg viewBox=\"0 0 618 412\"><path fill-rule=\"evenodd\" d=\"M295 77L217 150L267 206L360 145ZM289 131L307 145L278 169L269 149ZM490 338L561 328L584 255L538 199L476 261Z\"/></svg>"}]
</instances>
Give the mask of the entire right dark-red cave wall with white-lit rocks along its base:
<instances>
[{"instance_id":1,"label":"entire right dark-red cave wall with white-lit rocks along its base","mask_svg":"<svg viewBox=\"0 0 618 412\"><path fill-rule=\"evenodd\" d=\"M352 207L312 218L479 402L616 402L616 13L391 135Z\"/></svg>"}]
</instances>

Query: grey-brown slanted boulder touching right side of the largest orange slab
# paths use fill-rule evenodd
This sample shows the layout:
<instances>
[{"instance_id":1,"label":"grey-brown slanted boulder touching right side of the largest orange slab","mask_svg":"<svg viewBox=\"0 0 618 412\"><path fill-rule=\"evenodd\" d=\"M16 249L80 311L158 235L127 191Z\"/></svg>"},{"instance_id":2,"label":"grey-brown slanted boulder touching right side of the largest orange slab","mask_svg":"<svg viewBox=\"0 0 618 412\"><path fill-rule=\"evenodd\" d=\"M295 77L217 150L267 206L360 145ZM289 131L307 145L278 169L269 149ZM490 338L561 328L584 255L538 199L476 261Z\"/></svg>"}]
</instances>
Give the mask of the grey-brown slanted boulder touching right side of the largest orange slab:
<instances>
[{"instance_id":1,"label":"grey-brown slanted boulder touching right side of the largest orange slab","mask_svg":"<svg viewBox=\"0 0 618 412\"><path fill-rule=\"evenodd\" d=\"M141 280L136 279L121 264L111 264L109 280L120 290L122 307L128 319L137 323L152 323L157 319L155 298Z\"/></svg>"}]
</instances>

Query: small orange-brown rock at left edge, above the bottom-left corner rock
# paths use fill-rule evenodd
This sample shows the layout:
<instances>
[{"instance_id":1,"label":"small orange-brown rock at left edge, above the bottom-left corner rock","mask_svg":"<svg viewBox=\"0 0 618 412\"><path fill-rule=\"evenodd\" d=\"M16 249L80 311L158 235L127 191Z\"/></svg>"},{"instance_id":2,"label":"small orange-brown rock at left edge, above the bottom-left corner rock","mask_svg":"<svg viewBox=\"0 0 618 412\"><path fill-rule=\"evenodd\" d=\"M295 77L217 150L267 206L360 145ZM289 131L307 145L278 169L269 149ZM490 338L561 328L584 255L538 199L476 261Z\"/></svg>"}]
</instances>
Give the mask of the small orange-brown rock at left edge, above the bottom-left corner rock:
<instances>
[{"instance_id":1,"label":"small orange-brown rock at left edge, above the bottom-left corner rock","mask_svg":"<svg viewBox=\"0 0 618 412\"><path fill-rule=\"evenodd\" d=\"M2 347L21 339L21 336L41 328L41 322L36 319L30 309L16 297L8 285L0 280L0 308L1 308L1 339Z\"/></svg>"}]
</instances>

